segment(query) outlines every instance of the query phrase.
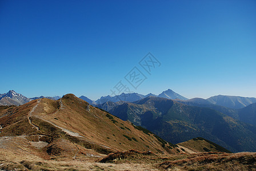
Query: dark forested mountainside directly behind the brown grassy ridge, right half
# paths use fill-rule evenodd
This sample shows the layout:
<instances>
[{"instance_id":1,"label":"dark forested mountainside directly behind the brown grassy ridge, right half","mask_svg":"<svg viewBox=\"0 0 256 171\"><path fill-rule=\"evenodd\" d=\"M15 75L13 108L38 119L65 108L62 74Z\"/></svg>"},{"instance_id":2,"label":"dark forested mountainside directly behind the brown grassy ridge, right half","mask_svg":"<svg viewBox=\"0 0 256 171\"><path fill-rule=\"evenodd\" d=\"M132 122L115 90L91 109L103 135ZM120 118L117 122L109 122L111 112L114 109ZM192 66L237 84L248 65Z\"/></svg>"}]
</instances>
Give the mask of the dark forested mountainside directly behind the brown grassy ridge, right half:
<instances>
[{"instance_id":1,"label":"dark forested mountainside directly behind the brown grassy ridge, right half","mask_svg":"<svg viewBox=\"0 0 256 171\"><path fill-rule=\"evenodd\" d=\"M141 125L172 143L203 137L232 152L256 150L256 127L214 109L147 97L134 103L118 105L110 113Z\"/></svg>"}]
</instances>

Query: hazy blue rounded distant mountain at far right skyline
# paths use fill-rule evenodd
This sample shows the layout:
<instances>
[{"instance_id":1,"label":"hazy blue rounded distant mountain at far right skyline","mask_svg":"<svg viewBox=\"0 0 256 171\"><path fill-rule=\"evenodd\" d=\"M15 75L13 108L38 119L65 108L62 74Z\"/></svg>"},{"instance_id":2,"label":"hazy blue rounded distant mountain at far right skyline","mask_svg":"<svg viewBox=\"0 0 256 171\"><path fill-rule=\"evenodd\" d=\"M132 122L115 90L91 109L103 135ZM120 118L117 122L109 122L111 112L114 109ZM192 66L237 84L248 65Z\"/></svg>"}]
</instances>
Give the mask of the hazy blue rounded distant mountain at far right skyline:
<instances>
[{"instance_id":1,"label":"hazy blue rounded distant mountain at far right skyline","mask_svg":"<svg viewBox=\"0 0 256 171\"><path fill-rule=\"evenodd\" d=\"M212 104L221 105L228 108L239 109L246 107L249 104L256 103L254 97L240 97L240 96L213 96L208 99Z\"/></svg>"}]
</instances>

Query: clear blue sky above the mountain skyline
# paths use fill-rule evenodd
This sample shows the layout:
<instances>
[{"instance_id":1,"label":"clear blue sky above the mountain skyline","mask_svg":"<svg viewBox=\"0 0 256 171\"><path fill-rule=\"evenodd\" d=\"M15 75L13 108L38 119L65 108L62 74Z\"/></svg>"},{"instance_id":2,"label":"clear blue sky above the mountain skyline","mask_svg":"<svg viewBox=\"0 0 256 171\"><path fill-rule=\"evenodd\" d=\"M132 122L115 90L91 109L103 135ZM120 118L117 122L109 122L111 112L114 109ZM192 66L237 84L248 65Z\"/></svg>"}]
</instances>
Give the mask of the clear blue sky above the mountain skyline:
<instances>
[{"instance_id":1,"label":"clear blue sky above the mountain skyline","mask_svg":"<svg viewBox=\"0 0 256 171\"><path fill-rule=\"evenodd\" d=\"M138 62L161 62L151 75ZM256 97L256 1L0 1L0 93Z\"/></svg>"}]
</instances>

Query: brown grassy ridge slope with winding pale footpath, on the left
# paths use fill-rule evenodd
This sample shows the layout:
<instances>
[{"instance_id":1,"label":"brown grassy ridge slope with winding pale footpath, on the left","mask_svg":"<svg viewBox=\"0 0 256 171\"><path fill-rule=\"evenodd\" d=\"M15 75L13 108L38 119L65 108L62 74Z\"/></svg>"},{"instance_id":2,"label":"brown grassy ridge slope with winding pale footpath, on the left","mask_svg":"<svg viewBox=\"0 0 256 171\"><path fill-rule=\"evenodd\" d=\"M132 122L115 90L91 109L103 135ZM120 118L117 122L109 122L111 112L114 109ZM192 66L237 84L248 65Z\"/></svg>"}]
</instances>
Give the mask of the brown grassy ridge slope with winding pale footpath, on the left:
<instances>
[{"instance_id":1,"label":"brown grassy ridge slope with winding pale footpath, on the left","mask_svg":"<svg viewBox=\"0 0 256 171\"><path fill-rule=\"evenodd\" d=\"M38 99L19 107L3 107L0 123L0 137L45 144L40 148L45 157L70 157L78 152L81 157L86 153L101 156L129 149L177 153L173 144L72 94L57 101Z\"/></svg>"}]
</instances>

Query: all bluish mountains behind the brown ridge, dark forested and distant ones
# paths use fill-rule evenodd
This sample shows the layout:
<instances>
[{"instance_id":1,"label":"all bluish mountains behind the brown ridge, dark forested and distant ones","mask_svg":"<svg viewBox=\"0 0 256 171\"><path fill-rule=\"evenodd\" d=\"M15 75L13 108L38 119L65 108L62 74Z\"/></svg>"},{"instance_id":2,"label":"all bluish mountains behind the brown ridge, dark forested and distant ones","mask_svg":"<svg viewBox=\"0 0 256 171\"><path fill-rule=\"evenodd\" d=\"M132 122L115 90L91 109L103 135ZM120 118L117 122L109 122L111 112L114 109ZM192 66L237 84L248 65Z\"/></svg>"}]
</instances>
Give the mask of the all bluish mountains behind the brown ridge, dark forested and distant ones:
<instances>
[{"instance_id":1,"label":"all bluish mountains behind the brown ridge, dark forested and distant ones","mask_svg":"<svg viewBox=\"0 0 256 171\"><path fill-rule=\"evenodd\" d=\"M61 97L27 98L10 90L0 95L0 105L22 105L31 100L44 98L58 100ZM253 97L218 95L209 99L186 99L168 89L158 96L151 93L145 96L138 93L122 93L114 97L101 97L97 101L85 96L81 96L80 99L122 120L130 120L135 125L147 128L173 143L181 143L194 137L205 137L233 152L253 151L256 148L253 144L256 142L256 103ZM215 123L208 123L209 119ZM219 128L227 129L229 134L221 135ZM245 141L246 137L249 141ZM230 140L233 141L230 143Z\"/></svg>"}]
</instances>

